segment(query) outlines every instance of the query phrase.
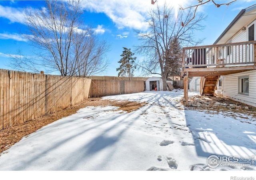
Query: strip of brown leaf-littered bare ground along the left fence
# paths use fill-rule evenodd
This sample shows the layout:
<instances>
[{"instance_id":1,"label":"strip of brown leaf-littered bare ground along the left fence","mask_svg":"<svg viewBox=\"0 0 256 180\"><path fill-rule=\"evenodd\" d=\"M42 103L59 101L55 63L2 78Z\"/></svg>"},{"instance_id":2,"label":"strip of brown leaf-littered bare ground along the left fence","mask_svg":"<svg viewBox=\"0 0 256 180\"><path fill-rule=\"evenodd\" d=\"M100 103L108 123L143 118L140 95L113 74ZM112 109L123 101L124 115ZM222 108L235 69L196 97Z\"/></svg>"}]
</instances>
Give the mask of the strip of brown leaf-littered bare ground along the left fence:
<instances>
[{"instance_id":1,"label":"strip of brown leaf-littered bare ground along the left fence","mask_svg":"<svg viewBox=\"0 0 256 180\"><path fill-rule=\"evenodd\" d=\"M16 126L0 130L0 154L16 142L20 141L23 137L28 136L56 120L75 114L79 109L85 108L86 106L117 106L117 110L123 110L129 113L140 108L144 104L145 103L131 101L102 100L102 98L86 99L83 102L70 106L64 110L30 120L24 124L18 124Z\"/></svg>"}]
</instances>

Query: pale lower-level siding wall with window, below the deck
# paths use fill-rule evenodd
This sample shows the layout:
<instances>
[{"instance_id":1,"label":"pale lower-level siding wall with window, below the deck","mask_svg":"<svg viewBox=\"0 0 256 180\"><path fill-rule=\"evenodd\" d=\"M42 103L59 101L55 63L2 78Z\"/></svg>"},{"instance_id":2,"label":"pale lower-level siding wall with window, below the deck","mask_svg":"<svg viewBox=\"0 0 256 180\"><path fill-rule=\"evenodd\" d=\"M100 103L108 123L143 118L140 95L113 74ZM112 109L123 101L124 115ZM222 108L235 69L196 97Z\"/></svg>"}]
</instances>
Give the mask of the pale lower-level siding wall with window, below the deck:
<instances>
[{"instance_id":1,"label":"pale lower-level siding wall with window, below the deck","mask_svg":"<svg viewBox=\"0 0 256 180\"><path fill-rule=\"evenodd\" d=\"M249 76L249 95L238 94L238 77ZM222 86L217 86L216 94L256 106L256 70L220 77Z\"/></svg>"}]
</instances>

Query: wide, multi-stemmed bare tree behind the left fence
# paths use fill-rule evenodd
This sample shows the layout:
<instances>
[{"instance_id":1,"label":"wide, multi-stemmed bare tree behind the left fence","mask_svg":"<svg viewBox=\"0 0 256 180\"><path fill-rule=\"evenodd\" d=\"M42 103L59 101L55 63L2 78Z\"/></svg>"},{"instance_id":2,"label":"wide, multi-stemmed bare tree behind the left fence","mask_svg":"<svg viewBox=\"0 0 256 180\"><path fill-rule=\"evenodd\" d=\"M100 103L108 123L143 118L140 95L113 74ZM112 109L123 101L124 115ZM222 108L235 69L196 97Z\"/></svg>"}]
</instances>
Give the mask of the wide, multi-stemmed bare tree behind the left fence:
<instances>
[{"instance_id":1,"label":"wide, multi-stemmed bare tree behind the left fence","mask_svg":"<svg viewBox=\"0 0 256 180\"><path fill-rule=\"evenodd\" d=\"M82 14L79 0L47 0L45 8L26 10L24 37L38 50L42 66L62 76L87 77L105 70L110 46L84 26Z\"/></svg>"}]
</instances>

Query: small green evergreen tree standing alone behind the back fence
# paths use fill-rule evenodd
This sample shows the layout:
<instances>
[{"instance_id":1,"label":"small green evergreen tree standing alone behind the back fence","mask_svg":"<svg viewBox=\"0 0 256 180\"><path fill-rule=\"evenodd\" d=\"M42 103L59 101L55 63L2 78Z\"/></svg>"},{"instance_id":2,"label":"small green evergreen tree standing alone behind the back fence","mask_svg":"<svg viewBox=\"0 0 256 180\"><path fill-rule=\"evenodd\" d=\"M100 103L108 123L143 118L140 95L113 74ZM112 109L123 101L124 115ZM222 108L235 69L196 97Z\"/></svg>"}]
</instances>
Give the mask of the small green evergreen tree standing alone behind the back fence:
<instances>
[{"instance_id":1,"label":"small green evergreen tree standing alone behind the back fence","mask_svg":"<svg viewBox=\"0 0 256 180\"><path fill-rule=\"evenodd\" d=\"M118 63L120 63L120 67L116 69L116 71L119 71L118 77L122 76L131 79L134 76L133 73L136 69L136 66L134 64L136 57L132 57L134 56L134 53L132 53L131 49L128 48L124 48L123 53L120 56L122 56L120 61L118 61Z\"/></svg>"}]
</instances>

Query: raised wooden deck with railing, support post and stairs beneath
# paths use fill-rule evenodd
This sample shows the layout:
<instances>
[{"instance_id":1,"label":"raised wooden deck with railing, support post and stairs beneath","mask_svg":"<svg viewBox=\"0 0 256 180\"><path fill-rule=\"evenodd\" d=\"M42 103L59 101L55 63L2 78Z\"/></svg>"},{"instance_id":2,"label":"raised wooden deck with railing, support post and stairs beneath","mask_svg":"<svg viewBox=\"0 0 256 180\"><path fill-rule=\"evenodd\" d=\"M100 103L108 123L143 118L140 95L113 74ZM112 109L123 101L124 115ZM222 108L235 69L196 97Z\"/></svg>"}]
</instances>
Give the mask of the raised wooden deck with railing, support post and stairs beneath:
<instances>
[{"instance_id":1,"label":"raised wooden deck with railing, support post and stairs beneath","mask_svg":"<svg viewBox=\"0 0 256 180\"><path fill-rule=\"evenodd\" d=\"M200 94L214 94L220 76L256 70L256 41L183 48L184 98L188 77L202 77Z\"/></svg>"}]
</instances>

